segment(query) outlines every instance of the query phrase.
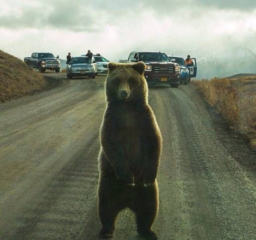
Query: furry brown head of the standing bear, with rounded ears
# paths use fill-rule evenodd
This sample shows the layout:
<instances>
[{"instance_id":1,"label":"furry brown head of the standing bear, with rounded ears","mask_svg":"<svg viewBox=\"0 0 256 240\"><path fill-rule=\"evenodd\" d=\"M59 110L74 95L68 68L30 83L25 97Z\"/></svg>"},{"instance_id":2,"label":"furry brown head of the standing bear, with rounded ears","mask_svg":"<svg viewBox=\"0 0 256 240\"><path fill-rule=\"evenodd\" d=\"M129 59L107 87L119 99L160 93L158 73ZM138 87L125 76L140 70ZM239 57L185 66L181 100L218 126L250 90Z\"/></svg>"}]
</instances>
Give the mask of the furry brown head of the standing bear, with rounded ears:
<instances>
[{"instance_id":1,"label":"furry brown head of the standing bear, with rounded ears","mask_svg":"<svg viewBox=\"0 0 256 240\"><path fill-rule=\"evenodd\" d=\"M145 64L108 64L105 82L107 102L144 102L148 100L148 85L144 78Z\"/></svg>"}]
</instances>

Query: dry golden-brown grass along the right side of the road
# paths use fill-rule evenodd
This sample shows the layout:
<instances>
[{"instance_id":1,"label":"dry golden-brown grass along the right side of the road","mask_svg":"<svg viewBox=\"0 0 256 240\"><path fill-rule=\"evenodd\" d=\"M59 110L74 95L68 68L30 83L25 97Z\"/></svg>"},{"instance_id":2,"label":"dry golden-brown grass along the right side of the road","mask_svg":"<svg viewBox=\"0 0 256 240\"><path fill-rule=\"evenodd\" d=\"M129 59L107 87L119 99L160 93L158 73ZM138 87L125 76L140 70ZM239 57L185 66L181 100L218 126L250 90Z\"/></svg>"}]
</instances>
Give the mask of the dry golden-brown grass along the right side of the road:
<instances>
[{"instance_id":1,"label":"dry golden-brown grass along the right side of the road","mask_svg":"<svg viewBox=\"0 0 256 240\"><path fill-rule=\"evenodd\" d=\"M193 83L230 127L245 134L256 149L256 76L213 78Z\"/></svg>"}]
</instances>

